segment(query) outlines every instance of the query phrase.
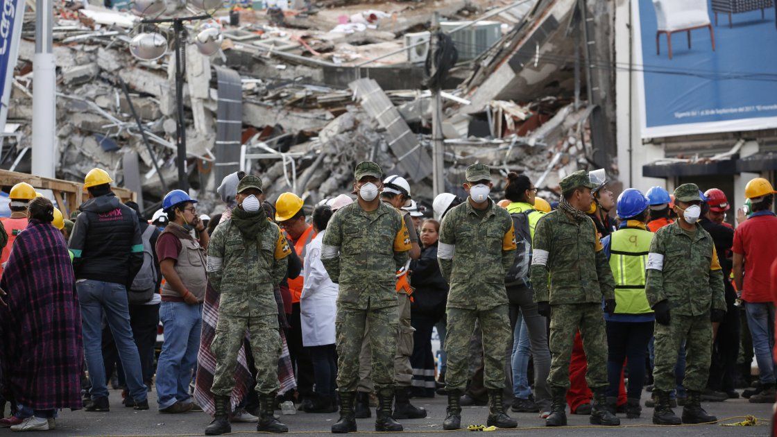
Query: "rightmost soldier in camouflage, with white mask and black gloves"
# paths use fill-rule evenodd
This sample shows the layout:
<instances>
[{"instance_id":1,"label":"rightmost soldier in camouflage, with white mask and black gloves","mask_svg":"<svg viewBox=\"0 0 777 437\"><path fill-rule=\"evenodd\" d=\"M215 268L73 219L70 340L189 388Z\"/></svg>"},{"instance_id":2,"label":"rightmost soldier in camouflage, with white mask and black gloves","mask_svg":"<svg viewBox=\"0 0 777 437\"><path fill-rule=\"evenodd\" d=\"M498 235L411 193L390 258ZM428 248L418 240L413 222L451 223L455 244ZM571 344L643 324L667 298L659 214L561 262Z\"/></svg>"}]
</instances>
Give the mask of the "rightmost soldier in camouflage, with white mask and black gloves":
<instances>
[{"instance_id":1,"label":"rightmost soldier in camouflage, with white mask and black gloves","mask_svg":"<svg viewBox=\"0 0 777 437\"><path fill-rule=\"evenodd\" d=\"M656 312L654 336L656 360L653 369L657 403L653 423L680 425L669 405L674 389L677 351L685 343L683 386L688 400L682 423L716 421L701 407L701 391L709 375L713 348L712 322L726 315L723 270L712 236L696 221L701 213L699 187L682 184L674 191L678 221L656 232L647 261L645 292Z\"/></svg>"}]
</instances>

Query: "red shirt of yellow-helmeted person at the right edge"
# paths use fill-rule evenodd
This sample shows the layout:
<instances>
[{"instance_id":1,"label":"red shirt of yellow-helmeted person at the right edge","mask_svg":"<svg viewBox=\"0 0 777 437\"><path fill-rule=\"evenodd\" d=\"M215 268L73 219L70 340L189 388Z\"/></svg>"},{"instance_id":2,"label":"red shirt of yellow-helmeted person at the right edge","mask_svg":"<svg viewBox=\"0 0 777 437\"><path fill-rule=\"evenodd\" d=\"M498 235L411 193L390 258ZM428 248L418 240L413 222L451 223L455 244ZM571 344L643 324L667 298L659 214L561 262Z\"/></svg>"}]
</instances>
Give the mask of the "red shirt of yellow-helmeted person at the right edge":
<instances>
[{"instance_id":1,"label":"red shirt of yellow-helmeted person at the right edge","mask_svg":"<svg viewBox=\"0 0 777 437\"><path fill-rule=\"evenodd\" d=\"M777 260L777 216L766 213L747 218L733 232L731 250L744 257L742 300L772 302L770 269Z\"/></svg>"}]
</instances>

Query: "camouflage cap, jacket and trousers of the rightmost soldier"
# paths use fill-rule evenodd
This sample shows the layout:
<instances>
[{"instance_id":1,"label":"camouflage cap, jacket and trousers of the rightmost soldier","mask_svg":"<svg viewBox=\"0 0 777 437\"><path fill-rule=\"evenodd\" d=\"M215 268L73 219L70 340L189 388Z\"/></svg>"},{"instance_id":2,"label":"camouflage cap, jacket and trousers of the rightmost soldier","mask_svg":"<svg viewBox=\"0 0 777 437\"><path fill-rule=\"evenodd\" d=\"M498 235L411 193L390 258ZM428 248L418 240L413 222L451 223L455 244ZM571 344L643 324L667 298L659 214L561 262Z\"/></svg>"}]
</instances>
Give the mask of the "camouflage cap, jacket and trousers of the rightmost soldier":
<instances>
[{"instance_id":1,"label":"camouflage cap, jacket and trousers of the rightmost soldier","mask_svg":"<svg viewBox=\"0 0 777 437\"><path fill-rule=\"evenodd\" d=\"M674 192L679 201L699 201L699 188L683 184ZM658 229L648 254L645 292L650 306L667 300L669 325L656 323L656 390L674 390L674 365L678 349L685 343L686 364L683 386L702 391L707 384L713 348L710 309L726 309L723 270L712 236L696 224L689 236L679 221Z\"/></svg>"}]
</instances>

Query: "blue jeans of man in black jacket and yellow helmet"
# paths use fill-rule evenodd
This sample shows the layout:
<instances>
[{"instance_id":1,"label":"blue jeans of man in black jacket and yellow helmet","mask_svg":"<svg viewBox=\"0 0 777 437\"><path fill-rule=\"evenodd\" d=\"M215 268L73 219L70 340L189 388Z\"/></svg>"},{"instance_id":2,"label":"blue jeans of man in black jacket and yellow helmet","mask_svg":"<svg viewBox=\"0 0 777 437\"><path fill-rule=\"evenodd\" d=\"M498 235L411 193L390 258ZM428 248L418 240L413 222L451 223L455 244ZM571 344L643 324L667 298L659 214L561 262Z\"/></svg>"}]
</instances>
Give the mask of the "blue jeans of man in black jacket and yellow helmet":
<instances>
[{"instance_id":1,"label":"blue jeans of man in black jacket and yellow helmet","mask_svg":"<svg viewBox=\"0 0 777 437\"><path fill-rule=\"evenodd\" d=\"M131 397L136 402L146 400L141 359L130 327L127 288L113 282L90 279L76 282L75 288L78 290L78 303L81 306L84 355L92 382L92 390L89 390L92 400L108 397L103 364L103 315L108 321L113 341L116 341Z\"/></svg>"}]
</instances>

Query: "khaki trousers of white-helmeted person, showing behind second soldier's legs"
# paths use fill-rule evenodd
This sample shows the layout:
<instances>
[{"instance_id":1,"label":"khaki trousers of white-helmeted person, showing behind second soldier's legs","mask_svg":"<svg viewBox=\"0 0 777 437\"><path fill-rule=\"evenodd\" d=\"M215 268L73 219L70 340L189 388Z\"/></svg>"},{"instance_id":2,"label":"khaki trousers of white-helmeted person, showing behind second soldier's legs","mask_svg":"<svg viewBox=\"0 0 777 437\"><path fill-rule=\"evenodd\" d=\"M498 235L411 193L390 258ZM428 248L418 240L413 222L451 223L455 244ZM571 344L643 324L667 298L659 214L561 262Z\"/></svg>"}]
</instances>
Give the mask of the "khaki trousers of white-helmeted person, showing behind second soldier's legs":
<instances>
[{"instance_id":1,"label":"khaki trousers of white-helmeted person, showing behind second soldier's legs","mask_svg":"<svg viewBox=\"0 0 777 437\"><path fill-rule=\"evenodd\" d=\"M410 365L410 355L413 355L413 332L415 332L415 328L410 325L410 298L405 293L397 293L396 297L399 330L396 337L396 355L394 355L394 383L399 387L409 387L413 381L413 366ZM372 393L375 387L371 378L370 323L367 323L366 330L367 333L361 342L361 354L359 355L358 391Z\"/></svg>"}]
</instances>

